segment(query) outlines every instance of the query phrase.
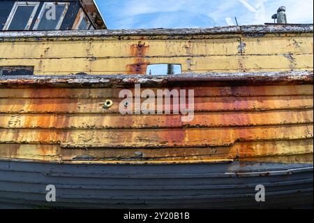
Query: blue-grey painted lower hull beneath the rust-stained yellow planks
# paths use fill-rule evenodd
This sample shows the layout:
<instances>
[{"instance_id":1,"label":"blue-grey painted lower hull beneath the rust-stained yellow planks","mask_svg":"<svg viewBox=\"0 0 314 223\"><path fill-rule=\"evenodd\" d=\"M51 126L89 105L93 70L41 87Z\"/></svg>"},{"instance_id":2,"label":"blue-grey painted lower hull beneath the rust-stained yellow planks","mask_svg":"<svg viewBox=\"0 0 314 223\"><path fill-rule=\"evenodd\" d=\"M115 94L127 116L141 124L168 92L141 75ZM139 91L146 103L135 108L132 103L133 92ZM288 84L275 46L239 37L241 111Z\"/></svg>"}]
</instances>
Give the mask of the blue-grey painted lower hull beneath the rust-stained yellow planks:
<instances>
[{"instance_id":1,"label":"blue-grey painted lower hull beneath the rust-stained yellow planks","mask_svg":"<svg viewBox=\"0 0 314 223\"><path fill-rule=\"evenodd\" d=\"M313 205L312 164L44 164L0 161L1 208L298 208ZM57 202L45 201L55 185ZM264 185L266 201L255 201Z\"/></svg>"}]
</instances>

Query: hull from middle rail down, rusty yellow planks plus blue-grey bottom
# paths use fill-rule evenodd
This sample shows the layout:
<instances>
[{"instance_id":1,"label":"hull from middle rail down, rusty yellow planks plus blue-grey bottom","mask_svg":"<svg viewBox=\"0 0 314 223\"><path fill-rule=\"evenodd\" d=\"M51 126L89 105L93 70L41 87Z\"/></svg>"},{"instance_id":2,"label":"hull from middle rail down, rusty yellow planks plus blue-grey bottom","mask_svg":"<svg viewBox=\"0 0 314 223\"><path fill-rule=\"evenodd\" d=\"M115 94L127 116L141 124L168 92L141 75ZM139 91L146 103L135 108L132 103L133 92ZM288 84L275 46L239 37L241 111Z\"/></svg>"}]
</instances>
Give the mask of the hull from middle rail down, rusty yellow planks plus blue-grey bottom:
<instances>
[{"instance_id":1,"label":"hull from middle rail down, rusty yellow planks plus blue-grey bottom","mask_svg":"<svg viewBox=\"0 0 314 223\"><path fill-rule=\"evenodd\" d=\"M2 78L0 205L313 204L313 72L142 77ZM138 82L195 89L195 120L119 114L117 93ZM47 185L57 202L45 201ZM255 201L257 185L265 202Z\"/></svg>"}]
</instances>

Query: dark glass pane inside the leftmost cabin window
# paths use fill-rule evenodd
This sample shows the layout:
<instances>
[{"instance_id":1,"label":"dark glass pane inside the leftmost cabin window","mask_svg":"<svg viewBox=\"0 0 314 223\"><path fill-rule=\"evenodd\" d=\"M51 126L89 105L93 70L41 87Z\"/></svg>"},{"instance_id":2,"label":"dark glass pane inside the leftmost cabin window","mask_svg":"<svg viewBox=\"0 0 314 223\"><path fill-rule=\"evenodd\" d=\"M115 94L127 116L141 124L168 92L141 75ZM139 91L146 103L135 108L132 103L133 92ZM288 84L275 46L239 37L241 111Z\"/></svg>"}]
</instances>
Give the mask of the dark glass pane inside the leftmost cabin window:
<instances>
[{"instance_id":1,"label":"dark glass pane inside the leftmost cabin window","mask_svg":"<svg viewBox=\"0 0 314 223\"><path fill-rule=\"evenodd\" d=\"M13 15L10 27L8 30L24 30L27 27L27 22L33 13L34 6L17 6L17 10Z\"/></svg>"}]
</instances>

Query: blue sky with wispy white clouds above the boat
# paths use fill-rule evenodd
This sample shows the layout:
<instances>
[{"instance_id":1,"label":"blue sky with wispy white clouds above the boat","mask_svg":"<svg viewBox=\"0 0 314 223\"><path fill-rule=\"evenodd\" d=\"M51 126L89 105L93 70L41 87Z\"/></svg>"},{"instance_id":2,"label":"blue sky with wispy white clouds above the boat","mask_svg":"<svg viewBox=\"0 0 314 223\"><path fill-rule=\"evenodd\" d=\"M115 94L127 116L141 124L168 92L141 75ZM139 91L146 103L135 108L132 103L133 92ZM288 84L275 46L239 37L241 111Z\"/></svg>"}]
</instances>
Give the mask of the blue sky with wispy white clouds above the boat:
<instances>
[{"instance_id":1,"label":"blue sky with wispy white clouds above the boat","mask_svg":"<svg viewBox=\"0 0 314 223\"><path fill-rule=\"evenodd\" d=\"M313 23L313 0L96 0L109 29L188 28L273 22L286 6L290 23Z\"/></svg>"}]
</instances>

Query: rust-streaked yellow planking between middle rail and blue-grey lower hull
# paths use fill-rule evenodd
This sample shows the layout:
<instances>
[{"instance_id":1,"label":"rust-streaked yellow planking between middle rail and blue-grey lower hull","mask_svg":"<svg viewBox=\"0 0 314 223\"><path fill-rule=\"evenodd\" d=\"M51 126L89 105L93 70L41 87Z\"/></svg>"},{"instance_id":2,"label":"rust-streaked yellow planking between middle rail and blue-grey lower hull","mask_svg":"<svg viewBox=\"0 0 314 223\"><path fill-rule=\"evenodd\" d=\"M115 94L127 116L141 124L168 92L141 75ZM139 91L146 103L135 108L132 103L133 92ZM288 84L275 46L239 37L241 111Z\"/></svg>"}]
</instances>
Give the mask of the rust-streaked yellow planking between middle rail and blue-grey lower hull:
<instances>
[{"instance_id":1,"label":"rust-streaked yellow planking between middle rail and blue-grey lower hull","mask_svg":"<svg viewBox=\"0 0 314 223\"><path fill-rule=\"evenodd\" d=\"M174 114L121 115L121 88L1 88L0 157L311 162L313 85L186 89L195 90L191 122ZM106 99L114 102L107 110Z\"/></svg>"}]
</instances>

